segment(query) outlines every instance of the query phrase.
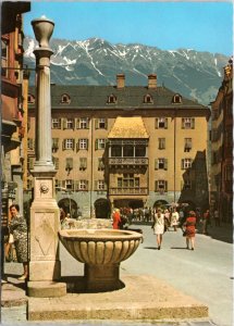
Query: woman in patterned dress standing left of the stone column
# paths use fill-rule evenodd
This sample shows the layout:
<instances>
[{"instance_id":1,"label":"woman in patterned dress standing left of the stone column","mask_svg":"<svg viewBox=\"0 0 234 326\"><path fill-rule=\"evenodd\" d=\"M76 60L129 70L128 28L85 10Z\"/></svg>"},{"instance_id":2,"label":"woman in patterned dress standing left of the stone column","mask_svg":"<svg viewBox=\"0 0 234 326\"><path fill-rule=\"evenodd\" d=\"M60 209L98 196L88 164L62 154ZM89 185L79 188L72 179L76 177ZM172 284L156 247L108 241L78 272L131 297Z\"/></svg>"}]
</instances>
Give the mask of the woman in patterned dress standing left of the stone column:
<instances>
[{"instance_id":1,"label":"woman in patterned dress standing left of the stone column","mask_svg":"<svg viewBox=\"0 0 234 326\"><path fill-rule=\"evenodd\" d=\"M27 222L24 216L20 215L19 204L12 204L10 206L10 213L11 224L9 226L9 230L14 238L17 262L23 263L24 267L24 274L19 277L19 279L24 280L28 277Z\"/></svg>"}]
</instances>

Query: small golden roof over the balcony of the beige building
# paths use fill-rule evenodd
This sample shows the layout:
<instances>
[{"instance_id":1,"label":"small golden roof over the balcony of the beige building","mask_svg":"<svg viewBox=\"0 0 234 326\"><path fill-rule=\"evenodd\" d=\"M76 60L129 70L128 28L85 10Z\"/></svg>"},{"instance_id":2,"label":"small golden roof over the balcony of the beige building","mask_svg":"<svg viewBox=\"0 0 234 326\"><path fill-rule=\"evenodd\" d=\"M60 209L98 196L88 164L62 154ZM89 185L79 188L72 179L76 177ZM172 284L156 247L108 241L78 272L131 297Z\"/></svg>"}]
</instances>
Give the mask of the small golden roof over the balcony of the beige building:
<instances>
[{"instance_id":1,"label":"small golden roof over the balcony of the beige building","mask_svg":"<svg viewBox=\"0 0 234 326\"><path fill-rule=\"evenodd\" d=\"M149 138L140 116L118 116L108 138Z\"/></svg>"}]
</instances>

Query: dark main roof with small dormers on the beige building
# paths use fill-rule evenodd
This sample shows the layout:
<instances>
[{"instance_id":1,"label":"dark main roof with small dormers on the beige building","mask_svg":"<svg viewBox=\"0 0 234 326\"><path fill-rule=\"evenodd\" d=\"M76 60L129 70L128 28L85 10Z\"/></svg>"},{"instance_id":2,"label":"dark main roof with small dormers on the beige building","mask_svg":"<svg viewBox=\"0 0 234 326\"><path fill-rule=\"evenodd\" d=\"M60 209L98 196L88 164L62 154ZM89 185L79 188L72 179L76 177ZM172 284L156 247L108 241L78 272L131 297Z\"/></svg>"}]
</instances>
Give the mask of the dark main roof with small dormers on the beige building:
<instances>
[{"instance_id":1,"label":"dark main roof with small dormers on the beige building","mask_svg":"<svg viewBox=\"0 0 234 326\"><path fill-rule=\"evenodd\" d=\"M35 96L35 87L29 87L29 95ZM62 102L62 96L67 95L67 103ZM52 85L51 86L51 106L52 109L76 109L76 110L125 110L132 111L137 109L205 109L207 106L181 96L180 103L173 102L176 92L159 87L148 88L143 86L125 86L121 89L116 86L81 86L81 85ZM113 97L114 96L114 97ZM146 102L146 96L151 100ZM109 101L110 97L114 101ZM34 106L34 104L33 104ZM29 103L29 108L30 103Z\"/></svg>"}]
</instances>

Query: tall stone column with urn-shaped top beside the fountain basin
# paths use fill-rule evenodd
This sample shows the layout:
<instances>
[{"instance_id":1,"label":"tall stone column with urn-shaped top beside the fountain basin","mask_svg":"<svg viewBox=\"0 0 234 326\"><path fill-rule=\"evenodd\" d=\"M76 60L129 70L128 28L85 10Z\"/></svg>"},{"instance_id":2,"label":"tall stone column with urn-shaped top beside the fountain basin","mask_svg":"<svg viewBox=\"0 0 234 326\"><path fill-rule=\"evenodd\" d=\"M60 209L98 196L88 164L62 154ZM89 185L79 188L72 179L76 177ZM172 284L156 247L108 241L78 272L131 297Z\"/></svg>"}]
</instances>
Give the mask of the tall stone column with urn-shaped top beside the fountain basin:
<instances>
[{"instance_id":1,"label":"tall stone column with urn-shaped top beside the fountain basin","mask_svg":"<svg viewBox=\"0 0 234 326\"><path fill-rule=\"evenodd\" d=\"M36 162L34 201L30 208L29 297L57 297L65 294L64 284L54 286L61 277L59 261L60 214L56 201L54 175L51 153L51 103L49 39L54 23L45 16L32 21L39 48L36 57ZM42 285L45 284L45 287ZM60 287L61 285L61 287ZM49 292L46 290L50 288ZM52 291L51 291L52 288Z\"/></svg>"}]
</instances>

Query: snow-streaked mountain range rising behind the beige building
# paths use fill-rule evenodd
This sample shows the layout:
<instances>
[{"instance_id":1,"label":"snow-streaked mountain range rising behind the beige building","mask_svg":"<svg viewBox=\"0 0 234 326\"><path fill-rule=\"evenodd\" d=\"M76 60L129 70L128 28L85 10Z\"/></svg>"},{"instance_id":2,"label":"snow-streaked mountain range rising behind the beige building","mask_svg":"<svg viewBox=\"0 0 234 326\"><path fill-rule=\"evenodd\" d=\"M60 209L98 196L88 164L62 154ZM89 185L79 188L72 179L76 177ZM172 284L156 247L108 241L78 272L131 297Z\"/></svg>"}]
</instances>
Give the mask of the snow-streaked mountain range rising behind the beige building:
<instances>
[{"instance_id":1,"label":"snow-streaked mountain range rising behind the beige building","mask_svg":"<svg viewBox=\"0 0 234 326\"><path fill-rule=\"evenodd\" d=\"M35 67L35 39L24 40L24 62ZM157 74L158 85L208 105L222 83L223 54L192 49L160 50L138 43L111 45L90 38L84 41L52 39L50 47L51 83L62 85L115 85L116 74L125 74L125 84L147 85L148 75ZM32 85L34 83L32 76Z\"/></svg>"}]
</instances>

